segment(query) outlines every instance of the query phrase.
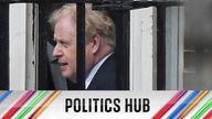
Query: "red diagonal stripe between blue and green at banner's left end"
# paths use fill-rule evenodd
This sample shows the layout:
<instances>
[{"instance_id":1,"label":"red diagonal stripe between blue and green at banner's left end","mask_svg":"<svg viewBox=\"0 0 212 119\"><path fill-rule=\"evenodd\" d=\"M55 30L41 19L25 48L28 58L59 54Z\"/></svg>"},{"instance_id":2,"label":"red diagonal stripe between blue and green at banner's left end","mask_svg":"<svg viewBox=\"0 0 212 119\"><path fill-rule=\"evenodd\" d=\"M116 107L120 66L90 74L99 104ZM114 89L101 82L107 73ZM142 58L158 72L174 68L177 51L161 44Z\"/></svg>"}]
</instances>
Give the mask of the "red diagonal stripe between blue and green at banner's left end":
<instances>
[{"instance_id":1,"label":"red diagonal stripe between blue and green at banner's left end","mask_svg":"<svg viewBox=\"0 0 212 119\"><path fill-rule=\"evenodd\" d=\"M34 94L34 90L29 90L28 93L25 93L21 99L19 99L19 101L2 117L2 119L10 119L20 108L23 104L25 104L25 101Z\"/></svg>"}]
</instances>

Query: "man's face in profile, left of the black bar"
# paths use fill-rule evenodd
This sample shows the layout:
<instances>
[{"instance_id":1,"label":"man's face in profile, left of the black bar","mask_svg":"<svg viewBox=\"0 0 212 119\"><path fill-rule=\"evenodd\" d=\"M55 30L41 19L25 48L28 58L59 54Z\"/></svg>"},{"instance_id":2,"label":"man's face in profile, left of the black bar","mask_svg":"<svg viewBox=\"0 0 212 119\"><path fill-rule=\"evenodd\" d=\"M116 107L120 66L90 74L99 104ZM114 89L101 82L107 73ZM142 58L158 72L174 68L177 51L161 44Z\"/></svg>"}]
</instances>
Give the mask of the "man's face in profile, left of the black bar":
<instances>
[{"instance_id":1,"label":"man's face in profile, left of the black bar","mask_svg":"<svg viewBox=\"0 0 212 119\"><path fill-rule=\"evenodd\" d=\"M54 28L56 46L53 55L59 60L62 76L76 82L76 30L71 18L61 18Z\"/></svg>"}]
</instances>

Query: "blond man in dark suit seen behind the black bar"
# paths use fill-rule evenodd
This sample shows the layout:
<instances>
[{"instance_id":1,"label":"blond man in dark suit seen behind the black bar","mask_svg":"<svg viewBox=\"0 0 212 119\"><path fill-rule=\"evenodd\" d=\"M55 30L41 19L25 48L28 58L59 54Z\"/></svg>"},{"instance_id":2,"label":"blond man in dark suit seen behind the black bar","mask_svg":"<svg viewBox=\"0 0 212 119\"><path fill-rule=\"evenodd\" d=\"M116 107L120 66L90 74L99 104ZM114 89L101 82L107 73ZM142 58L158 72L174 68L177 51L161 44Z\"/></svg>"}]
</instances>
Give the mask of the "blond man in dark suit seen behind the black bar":
<instances>
[{"instance_id":1,"label":"blond man in dark suit seen behind the black bar","mask_svg":"<svg viewBox=\"0 0 212 119\"><path fill-rule=\"evenodd\" d=\"M85 89L117 89L114 22L106 12L93 11L92 4L86 3L85 8ZM65 4L54 11L50 23L56 41L53 56L62 76L76 84L76 6Z\"/></svg>"}]
</instances>

